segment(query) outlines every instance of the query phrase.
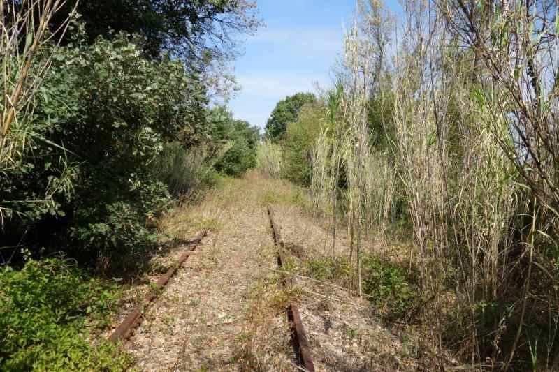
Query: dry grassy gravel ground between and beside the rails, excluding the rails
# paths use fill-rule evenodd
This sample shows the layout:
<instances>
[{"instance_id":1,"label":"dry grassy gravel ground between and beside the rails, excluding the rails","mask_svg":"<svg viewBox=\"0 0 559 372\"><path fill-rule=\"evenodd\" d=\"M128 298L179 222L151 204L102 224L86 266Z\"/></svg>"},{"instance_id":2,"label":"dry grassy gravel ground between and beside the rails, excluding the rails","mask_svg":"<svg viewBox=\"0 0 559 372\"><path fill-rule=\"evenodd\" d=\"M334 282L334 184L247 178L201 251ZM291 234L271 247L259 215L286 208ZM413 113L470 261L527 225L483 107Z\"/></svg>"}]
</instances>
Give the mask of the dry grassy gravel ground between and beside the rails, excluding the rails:
<instances>
[{"instance_id":1,"label":"dry grassy gravel ground between and beside the rails, excluding the rails","mask_svg":"<svg viewBox=\"0 0 559 372\"><path fill-rule=\"evenodd\" d=\"M266 204L277 207L286 242L309 252L330 244L324 230L300 216L298 200L288 184L253 173L165 218L175 235L189 238L204 228L210 234L127 343L138 369L298 371L285 309L299 297L317 371L408 370L405 345L372 318L368 302L312 281L279 285Z\"/></svg>"}]
</instances>

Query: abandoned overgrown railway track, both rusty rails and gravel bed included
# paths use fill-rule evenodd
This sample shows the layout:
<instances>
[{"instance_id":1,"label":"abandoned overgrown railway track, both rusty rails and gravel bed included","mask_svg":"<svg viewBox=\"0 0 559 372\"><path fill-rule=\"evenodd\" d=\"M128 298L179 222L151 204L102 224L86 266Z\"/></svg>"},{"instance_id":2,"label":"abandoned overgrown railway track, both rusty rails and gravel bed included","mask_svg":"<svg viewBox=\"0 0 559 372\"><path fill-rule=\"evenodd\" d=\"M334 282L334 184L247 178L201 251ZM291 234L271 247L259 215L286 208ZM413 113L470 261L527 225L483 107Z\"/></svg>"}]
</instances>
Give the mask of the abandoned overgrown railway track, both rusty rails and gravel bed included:
<instances>
[{"instance_id":1,"label":"abandoned overgrown railway track, both rusty rails and gravel bed included","mask_svg":"<svg viewBox=\"0 0 559 372\"><path fill-rule=\"evenodd\" d=\"M156 258L166 273L131 288L105 334L138 371L409 371L370 303L307 271L336 262L331 237L270 201L288 187L254 175L169 216L177 239L196 239Z\"/></svg>"}]
</instances>

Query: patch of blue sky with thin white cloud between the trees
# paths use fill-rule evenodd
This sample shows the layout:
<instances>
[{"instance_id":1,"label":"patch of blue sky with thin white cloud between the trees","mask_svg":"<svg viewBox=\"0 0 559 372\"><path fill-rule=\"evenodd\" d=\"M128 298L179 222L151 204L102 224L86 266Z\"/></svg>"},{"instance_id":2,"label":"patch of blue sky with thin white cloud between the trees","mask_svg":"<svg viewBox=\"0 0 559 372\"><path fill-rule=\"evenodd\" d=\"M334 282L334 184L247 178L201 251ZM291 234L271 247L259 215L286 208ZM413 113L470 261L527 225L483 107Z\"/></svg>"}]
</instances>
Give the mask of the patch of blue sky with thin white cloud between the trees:
<instances>
[{"instance_id":1,"label":"patch of blue sky with thin white cloud between the trees","mask_svg":"<svg viewBox=\"0 0 559 372\"><path fill-rule=\"evenodd\" d=\"M386 1L395 9L396 0ZM277 101L314 84L328 87L342 53L343 26L355 13L355 0L258 0L266 24L249 37L235 61L242 90L229 107L235 119L263 128Z\"/></svg>"}]
</instances>

